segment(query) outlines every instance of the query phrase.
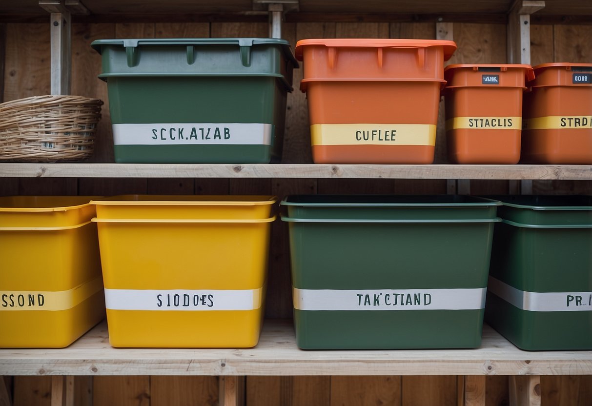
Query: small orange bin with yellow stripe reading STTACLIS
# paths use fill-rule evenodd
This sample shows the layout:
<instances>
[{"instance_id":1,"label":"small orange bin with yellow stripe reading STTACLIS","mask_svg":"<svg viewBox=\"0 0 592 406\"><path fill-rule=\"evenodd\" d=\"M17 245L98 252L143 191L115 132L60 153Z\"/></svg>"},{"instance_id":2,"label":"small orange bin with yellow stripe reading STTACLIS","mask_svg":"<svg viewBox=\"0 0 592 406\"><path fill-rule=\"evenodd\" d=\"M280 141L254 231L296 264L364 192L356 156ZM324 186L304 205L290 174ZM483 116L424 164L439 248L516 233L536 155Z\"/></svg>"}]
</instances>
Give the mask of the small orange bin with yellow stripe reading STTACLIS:
<instances>
[{"instance_id":1,"label":"small orange bin with yellow stripe reading STTACLIS","mask_svg":"<svg viewBox=\"0 0 592 406\"><path fill-rule=\"evenodd\" d=\"M535 78L530 65L449 65L446 140L454 163L513 164L520 160L522 93Z\"/></svg>"}]
</instances>

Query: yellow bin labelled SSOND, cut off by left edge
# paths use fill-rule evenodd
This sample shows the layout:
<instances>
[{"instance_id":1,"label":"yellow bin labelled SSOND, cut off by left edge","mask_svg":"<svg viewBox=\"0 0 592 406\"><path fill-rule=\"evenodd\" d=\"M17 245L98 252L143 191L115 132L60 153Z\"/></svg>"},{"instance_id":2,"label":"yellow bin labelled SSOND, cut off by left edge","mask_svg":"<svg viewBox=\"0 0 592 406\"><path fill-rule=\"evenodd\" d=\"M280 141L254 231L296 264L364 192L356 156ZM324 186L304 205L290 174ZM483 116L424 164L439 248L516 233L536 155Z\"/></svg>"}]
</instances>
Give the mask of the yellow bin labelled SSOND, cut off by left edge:
<instances>
[{"instance_id":1,"label":"yellow bin labelled SSOND, cut off by left edge","mask_svg":"<svg viewBox=\"0 0 592 406\"><path fill-rule=\"evenodd\" d=\"M66 347L105 317L91 199L0 198L0 347Z\"/></svg>"}]
</instances>

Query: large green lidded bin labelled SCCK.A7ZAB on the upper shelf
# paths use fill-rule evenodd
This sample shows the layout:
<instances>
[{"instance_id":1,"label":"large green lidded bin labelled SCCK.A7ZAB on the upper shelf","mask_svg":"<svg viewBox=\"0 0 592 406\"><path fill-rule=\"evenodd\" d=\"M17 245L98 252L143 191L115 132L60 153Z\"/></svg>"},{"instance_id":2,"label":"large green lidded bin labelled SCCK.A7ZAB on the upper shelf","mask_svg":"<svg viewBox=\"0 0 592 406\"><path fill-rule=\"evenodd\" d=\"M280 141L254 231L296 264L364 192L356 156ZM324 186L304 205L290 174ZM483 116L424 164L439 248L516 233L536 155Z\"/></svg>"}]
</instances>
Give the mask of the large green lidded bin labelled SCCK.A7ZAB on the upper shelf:
<instances>
[{"instance_id":1,"label":"large green lidded bin labelled SCCK.A7ZAB on the upper shelf","mask_svg":"<svg viewBox=\"0 0 592 406\"><path fill-rule=\"evenodd\" d=\"M279 162L298 67L273 38L96 40L115 162Z\"/></svg>"}]
</instances>

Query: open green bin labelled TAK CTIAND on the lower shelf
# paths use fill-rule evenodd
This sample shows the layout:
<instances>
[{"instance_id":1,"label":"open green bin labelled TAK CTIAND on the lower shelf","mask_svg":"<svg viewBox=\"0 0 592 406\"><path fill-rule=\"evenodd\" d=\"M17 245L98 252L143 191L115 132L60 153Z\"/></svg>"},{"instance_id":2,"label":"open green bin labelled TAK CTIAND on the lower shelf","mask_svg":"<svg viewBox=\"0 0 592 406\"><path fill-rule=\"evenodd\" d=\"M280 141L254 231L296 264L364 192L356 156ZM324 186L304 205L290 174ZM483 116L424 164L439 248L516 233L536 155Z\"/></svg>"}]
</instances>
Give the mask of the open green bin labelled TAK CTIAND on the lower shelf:
<instances>
[{"instance_id":1,"label":"open green bin labelled TAK CTIAND on the lower shelf","mask_svg":"<svg viewBox=\"0 0 592 406\"><path fill-rule=\"evenodd\" d=\"M289 228L298 347L480 346L499 202L288 196L281 204L290 216L282 220Z\"/></svg>"}]
</instances>

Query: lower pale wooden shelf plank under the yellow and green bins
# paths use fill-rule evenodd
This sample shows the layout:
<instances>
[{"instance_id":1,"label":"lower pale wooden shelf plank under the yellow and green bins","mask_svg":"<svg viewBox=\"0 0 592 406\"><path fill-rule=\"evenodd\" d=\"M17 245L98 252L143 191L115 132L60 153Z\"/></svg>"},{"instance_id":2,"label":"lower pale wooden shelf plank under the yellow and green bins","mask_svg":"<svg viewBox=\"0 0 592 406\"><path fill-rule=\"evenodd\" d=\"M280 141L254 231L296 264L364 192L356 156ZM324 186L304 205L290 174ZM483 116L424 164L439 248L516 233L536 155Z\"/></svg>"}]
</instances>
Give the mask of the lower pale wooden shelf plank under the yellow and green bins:
<instances>
[{"instance_id":1,"label":"lower pale wooden shelf plank under the yellow and green bins","mask_svg":"<svg viewBox=\"0 0 592 406\"><path fill-rule=\"evenodd\" d=\"M0 375L590 375L592 351L526 352L487 325L478 349L304 351L266 320L252 349L115 349L101 323L65 349L2 349Z\"/></svg>"}]
</instances>

